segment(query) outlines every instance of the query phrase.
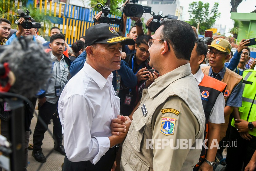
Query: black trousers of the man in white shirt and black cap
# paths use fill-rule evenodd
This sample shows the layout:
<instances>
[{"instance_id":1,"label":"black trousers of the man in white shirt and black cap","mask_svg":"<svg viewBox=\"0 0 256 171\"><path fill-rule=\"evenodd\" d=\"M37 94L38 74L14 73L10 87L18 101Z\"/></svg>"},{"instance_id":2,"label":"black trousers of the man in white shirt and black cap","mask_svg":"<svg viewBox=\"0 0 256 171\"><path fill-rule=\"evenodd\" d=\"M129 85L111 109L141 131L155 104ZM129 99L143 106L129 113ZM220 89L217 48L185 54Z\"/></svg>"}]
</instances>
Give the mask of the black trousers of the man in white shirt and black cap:
<instances>
[{"instance_id":1,"label":"black trousers of the man in white shirt and black cap","mask_svg":"<svg viewBox=\"0 0 256 171\"><path fill-rule=\"evenodd\" d=\"M119 147L117 146L109 149L95 165L90 161L72 162L65 156L62 171L111 171L118 148Z\"/></svg>"}]
</instances>

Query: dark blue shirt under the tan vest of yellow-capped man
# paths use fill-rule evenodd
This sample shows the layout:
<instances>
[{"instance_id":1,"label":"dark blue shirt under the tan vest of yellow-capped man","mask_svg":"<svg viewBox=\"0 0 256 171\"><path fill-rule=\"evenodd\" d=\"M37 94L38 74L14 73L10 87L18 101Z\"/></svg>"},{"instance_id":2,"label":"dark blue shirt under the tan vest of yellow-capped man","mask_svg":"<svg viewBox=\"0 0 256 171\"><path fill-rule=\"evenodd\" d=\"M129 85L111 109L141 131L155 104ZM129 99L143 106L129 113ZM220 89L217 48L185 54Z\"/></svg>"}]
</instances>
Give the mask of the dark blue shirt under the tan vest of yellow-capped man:
<instances>
[{"instance_id":1,"label":"dark blue shirt under the tan vest of yellow-capped man","mask_svg":"<svg viewBox=\"0 0 256 171\"><path fill-rule=\"evenodd\" d=\"M224 66L221 71L216 75L216 79L221 81L225 75L226 72L226 67ZM213 77L213 70L212 67L210 67L209 70L209 76ZM228 97L226 101L226 106L232 106L232 107L241 107L242 106L242 93L243 93L243 88L242 88L242 81L241 80L232 90L230 96Z\"/></svg>"}]
</instances>

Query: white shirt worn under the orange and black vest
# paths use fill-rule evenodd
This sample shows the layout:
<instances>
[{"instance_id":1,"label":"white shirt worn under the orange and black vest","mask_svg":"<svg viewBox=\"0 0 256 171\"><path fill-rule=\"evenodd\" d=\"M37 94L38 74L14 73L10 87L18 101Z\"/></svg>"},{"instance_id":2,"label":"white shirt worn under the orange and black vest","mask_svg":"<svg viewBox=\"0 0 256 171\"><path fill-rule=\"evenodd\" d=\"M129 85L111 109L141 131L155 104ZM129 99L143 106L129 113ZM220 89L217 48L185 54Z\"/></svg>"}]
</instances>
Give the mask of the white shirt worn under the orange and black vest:
<instances>
[{"instance_id":1,"label":"white shirt worn under the orange and black vest","mask_svg":"<svg viewBox=\"0 0 256 171\"><path fill-rule=\"evenodd\" d=\"M197 71L194 75L196 78L196 82L199 85L202 79L204 78L204 73L202 72L201 68ZM225 107L225 99L222 93L219 94L217 97L213 109L210 113L208 121L214 124L221 124L225 122L224 119L224 107Z\"/></svg>"}]
</instances>

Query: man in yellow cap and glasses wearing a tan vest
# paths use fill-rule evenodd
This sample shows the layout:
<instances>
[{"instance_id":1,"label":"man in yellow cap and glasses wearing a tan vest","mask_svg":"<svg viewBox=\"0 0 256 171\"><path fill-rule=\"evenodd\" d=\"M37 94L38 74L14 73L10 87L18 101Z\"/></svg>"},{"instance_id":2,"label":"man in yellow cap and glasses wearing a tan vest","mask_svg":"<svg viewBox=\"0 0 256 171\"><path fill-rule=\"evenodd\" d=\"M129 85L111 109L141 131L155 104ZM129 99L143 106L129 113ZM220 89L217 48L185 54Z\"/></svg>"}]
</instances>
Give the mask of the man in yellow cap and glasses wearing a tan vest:
<instances>
[{"instance_id":1,"label":"man in yellow cap and glasses wearing a tan vest","mask_svg":"<svg viewBox=\"0 0 256 171\"><path fill-rule=\"evenodd\" d=\"M221 135L219 143L220 148L225 149L224 142L228 141L227 138L229 130L227 131L227 128L229 125L230 114L233 112L234 108L241 107L242 105L242 76L236 74L235 72L229 70L224 66L225 60L229 58L229 53L231 50L231 45L228 40L225 40L223 38L217 38L211 43L210 46L208 46L208 48L210 49L210 66L203 67L203 73L227 84L227 88L224 93L224 99L226 102L224 108L225 123L221 124ZM233 117L239 117L238 110L237 112L233 113L237 113L238 115ZM226 139L224 138L225 136ZM216 155L217 159L219 160L222 158L221 153L221 150L218 150Z\"/></svg>"}]
</instances>

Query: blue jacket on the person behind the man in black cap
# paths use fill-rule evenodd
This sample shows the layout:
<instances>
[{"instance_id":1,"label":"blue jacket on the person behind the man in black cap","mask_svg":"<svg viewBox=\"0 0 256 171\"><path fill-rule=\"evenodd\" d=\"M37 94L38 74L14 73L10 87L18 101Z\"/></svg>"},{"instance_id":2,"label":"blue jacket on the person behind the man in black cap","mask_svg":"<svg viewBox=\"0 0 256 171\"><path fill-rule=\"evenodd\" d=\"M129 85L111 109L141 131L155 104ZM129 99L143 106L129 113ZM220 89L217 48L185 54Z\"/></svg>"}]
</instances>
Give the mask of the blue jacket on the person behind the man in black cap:
<instances>
[{"instance_id":1,"label":"blue jacket on the person behind the man in black cap","mask_svg":"<svg viewBox=\"0 0 256 171\"><path fill-rule=\"evenodd\" d=\"M71 63L69 73L73 77L80 71L85 64L86 61L86 51L82 52L75 61ZM122 83L129 88L134 88L137 84L137 77L136 75L132 72L131 68L125 61L121 61L121 67L119 70L117 70L118 74L121 76ZM112 85L116 91L117 87L117 77L116 77L116 71L113 71L113 80L112 80Z\"/></svg>"}]
</instances>

